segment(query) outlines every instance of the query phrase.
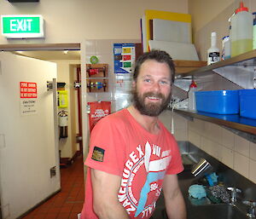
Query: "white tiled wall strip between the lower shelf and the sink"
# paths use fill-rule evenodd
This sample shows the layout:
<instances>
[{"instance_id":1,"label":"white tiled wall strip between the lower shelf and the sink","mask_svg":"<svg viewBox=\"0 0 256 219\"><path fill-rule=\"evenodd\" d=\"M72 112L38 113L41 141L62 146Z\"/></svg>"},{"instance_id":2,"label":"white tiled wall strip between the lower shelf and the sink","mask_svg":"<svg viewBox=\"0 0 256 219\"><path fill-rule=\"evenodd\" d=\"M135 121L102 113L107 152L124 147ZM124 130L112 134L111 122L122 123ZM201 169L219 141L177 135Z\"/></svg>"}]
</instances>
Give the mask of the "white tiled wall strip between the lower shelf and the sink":
<instances>
[{"instance_id":1,"label":"white tiled wall strip between the lower shelf and the sink","mask_svg":"<svg viewBox=\"0 0 256 219\"><path fill-rule=\"evenodd\" d=\"M256 183L256 144L217 124L188 122L188 140Z\"/></svg>"}]
</instances>

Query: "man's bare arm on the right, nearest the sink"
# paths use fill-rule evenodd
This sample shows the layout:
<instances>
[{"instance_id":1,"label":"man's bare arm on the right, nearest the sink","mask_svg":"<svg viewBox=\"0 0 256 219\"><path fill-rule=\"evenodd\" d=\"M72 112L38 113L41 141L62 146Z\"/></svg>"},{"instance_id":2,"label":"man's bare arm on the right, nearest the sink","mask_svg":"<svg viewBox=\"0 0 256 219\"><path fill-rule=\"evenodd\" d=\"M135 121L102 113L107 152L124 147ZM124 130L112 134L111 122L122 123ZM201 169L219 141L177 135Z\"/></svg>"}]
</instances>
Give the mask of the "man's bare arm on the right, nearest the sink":
<instances>
[{"instance_id":1,"label":"man's bare arm on the right, nearest the sink","mask_svg":"<svg viewBox=\"0 0 256 219\"><path fill-rule=\"evenodd\" d=\"M169 219L186 219L186 207L180 191L177 175L166 175L163 182L166 212Z\"/></svg>"}]
</instances>

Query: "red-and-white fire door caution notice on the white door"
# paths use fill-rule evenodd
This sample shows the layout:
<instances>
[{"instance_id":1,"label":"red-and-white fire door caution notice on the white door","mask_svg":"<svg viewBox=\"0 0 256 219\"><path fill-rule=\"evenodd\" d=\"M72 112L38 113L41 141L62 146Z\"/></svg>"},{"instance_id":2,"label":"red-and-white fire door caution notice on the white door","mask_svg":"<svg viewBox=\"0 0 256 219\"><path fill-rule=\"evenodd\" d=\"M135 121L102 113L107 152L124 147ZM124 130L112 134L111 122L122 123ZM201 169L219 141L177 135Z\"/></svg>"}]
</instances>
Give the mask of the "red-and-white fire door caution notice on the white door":
<instances>
[{"instance_id":1,"label":"red-and-white fire door caution notice on the white door","mask_svg":"<svg viewBox=\"0 0 256 219\"><path fill-rule=\"evenodd\" d=\"M36 114L38 88L37 83L20 82L20 114L22 116Z\"/></svg>"}]
</instances>

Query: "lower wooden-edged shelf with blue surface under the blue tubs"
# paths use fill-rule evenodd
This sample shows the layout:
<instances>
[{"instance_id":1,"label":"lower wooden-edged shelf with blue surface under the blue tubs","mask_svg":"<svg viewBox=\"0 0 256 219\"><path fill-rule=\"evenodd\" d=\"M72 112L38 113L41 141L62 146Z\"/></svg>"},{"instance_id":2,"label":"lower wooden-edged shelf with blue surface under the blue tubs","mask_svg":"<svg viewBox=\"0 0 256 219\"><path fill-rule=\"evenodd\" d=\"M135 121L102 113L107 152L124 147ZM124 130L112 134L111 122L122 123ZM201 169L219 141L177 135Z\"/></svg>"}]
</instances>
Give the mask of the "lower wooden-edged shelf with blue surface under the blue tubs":
<instances>
[{"instance_id":1,"label":"lower wooden-edged shelf with blue surface under the blue tubs","mask_svg":"<svg viewBox=\"0 0 256 219\"><path fill-rule=\"evenodd\" d=\"M208 112L192 112L188 110L174 109L174 112L183 116L199 118L213 124L224 125L231 129L240 130L256 135L256 119L242 118L239 115L218 115Z\"/></svg>"}]
</instances>

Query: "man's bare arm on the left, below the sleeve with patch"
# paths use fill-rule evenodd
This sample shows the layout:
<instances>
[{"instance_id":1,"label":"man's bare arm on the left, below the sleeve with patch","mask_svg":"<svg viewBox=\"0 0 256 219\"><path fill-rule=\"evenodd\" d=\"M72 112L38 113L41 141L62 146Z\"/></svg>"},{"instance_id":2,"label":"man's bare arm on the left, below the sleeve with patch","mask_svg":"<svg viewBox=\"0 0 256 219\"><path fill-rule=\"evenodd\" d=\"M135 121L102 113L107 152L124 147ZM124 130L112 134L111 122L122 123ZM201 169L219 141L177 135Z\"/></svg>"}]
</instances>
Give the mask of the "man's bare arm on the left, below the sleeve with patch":
<instances>
[{"instance_id":1,"label":"man's bare arm on the left, below the sleeve with patch","mask_svg":"<svg viewBox=\"0 0 256 219\"><path fill-rule=\"evenodd\" d=\"M90 169L90 175L96 215L100 219L129 219L118 199L121 177L94 169Z\"/></svg>"}]
</instances>

